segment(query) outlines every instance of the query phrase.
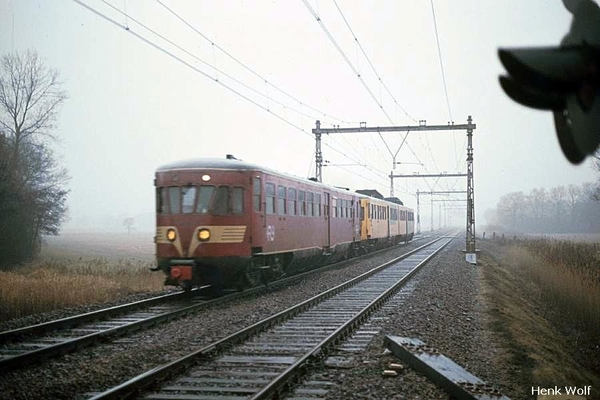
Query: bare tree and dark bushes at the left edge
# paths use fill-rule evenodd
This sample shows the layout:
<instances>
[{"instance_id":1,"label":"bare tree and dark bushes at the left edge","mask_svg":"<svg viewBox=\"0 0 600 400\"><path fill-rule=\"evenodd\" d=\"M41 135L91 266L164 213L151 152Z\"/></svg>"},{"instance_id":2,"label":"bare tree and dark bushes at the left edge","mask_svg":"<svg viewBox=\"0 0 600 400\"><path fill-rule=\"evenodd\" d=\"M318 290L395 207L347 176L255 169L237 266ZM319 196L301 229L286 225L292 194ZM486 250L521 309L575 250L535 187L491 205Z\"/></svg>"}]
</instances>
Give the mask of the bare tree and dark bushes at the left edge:
<instances>
[{"instance_id":1,"label":"bare tree and dark bushes at the left edge","mask_svg":"<svg viewBox=\"0 0 600 400\"><path fill-rule=\"evenodd\" d=\"M0 57L0 267L34 257L66 217L68 174L50 147L65 99L37 53Z\"/></svg>"}]
</instances>

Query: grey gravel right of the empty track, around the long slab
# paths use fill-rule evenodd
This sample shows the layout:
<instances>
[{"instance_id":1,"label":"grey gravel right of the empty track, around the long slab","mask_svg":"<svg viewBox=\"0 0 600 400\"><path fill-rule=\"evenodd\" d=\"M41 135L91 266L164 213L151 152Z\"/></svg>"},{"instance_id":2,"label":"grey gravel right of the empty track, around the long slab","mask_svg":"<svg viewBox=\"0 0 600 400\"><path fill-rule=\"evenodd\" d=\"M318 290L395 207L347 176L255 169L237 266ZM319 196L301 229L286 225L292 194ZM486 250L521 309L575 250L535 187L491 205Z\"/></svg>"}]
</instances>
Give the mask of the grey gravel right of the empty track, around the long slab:
<instances>
[{"instance_id":1,"label":"grey gravel right of the empty track, around the long slab","mask_svg":"<svg viewBox=\"0 0 600 400\"><path fill-rule=\"evenodd\" d=\"M418 338L504 395L517 398L507 373L510 366L500 361L501 343L485 328L481 269L465 262L462 240L455 239L446 249L415 275L404 306L379 320L380 333L356 358L354 368L322 371L337 382L327 399L451 399L406 365L398 376L383 377L390 363L403 364L385 349L386 334Z\"/></svg>"}]
</instances>

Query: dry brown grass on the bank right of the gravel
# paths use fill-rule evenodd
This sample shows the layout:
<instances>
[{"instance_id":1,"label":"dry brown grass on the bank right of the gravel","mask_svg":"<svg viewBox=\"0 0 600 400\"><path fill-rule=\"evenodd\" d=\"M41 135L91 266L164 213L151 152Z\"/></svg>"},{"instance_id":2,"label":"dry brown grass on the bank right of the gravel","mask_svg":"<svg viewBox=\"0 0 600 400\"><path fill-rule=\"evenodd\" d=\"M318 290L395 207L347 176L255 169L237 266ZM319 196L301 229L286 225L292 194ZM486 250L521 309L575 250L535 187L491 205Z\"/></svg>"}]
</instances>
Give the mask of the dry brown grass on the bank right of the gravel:
<instances>
[{"instance_id":1,"label":"dry brown grass on the bank right of the gravel","mask_svg":"<svg viewBox=\"0 0 600 400\"><path fill-rule=\"evenodd\" d=\"M594 360L600 350L594 338L599 331L594 327L599 322L600 282L591 279L594 264L582 263L580 253L569 256L555 251L568 250L570 245L552 246L557 247L490 244L481 257L490 324L506 340L519 398L529 398L531 386L589 384L598 396L600 379ZM569 263L574 259L578 265Z\"/></svg>"}]
</instances>

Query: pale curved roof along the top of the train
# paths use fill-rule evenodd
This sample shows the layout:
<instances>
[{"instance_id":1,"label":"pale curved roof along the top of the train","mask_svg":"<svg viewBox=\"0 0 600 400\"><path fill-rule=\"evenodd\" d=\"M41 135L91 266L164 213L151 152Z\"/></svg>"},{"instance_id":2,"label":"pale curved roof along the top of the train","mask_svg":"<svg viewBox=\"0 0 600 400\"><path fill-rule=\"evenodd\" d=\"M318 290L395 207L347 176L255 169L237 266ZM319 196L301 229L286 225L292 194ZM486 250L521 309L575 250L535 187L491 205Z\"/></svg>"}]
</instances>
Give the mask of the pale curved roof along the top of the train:
<instances>
[{"instance_id":1,"label":"pale curved roof along the top of the train","mask_svg":"<svg viewBox=\"0 0 600 400\"><path fill-rule=\"evenodd\" d=\"M378 194L381 196L381 198L378 198L376 196L371 196L371 195L365 193L365 192L373 192L372 190L357 190L355 192L352 192L350 190L336 188L334 186L325 185L324 183L313 181L311 179L301 178L298 176L275 171L270 168L265 168L258 164L239 160L229 154L225 158L203 157L203 158L190 158L190 159L186 159L186 160L174 161L169 164L161 165L160 167L158 167L156 169L156 172L166 172L166 171L175 171L175 170L183 170L183 169L222 169L222 170L238 170L238 171L262 171L262 172L268 172L268 173L271 173L274 175L286 177L289 179L294 179L297 181L303 181L306 183L310 183L312 185L322 186L323 188L334 190L338 193L349 193L349 194L354 194L358 197L369 197L371 199L378 199L378 200L382 200L382 201L391 202L387 199L384 200L383 196L381 196L381 194L379 194L379 193ZM400 202L400 205L402 205L402 202Z\"/></svg>"}]
</instances>

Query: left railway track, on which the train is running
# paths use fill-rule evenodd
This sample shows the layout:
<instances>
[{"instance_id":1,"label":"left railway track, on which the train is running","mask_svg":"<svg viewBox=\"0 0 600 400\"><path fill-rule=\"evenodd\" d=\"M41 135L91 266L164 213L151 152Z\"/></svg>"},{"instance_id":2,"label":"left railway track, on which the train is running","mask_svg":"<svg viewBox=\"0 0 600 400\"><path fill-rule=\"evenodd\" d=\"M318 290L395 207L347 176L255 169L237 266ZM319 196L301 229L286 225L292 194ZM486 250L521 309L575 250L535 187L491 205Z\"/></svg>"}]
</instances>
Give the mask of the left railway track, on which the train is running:
<instances>
[{"instance_id":1,"label":"left railway track, on which the train is running","mask_svg":"<svg viewBox=\"0 0 600 400\"><path fill-rule=\"evenodd\" d=\"M424 236L424 238L426 237ZM378 252L356 257L353 260L369 257L376 253ZM280 279L270 283L269 286L274 288L289 285L307 275L338 268L340 264L332 264ZM261 286L216 299L178 292L0 332L0 373L40 363L51 357L76 351L101 341L122 337L208 307L256 295L264 290L265 287ZM200 292L200 290L196 290L196 292Z\"/></svg>"}]
</instances>

